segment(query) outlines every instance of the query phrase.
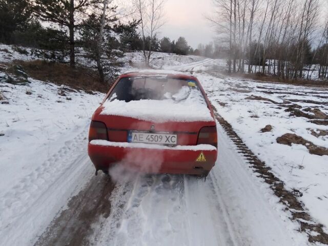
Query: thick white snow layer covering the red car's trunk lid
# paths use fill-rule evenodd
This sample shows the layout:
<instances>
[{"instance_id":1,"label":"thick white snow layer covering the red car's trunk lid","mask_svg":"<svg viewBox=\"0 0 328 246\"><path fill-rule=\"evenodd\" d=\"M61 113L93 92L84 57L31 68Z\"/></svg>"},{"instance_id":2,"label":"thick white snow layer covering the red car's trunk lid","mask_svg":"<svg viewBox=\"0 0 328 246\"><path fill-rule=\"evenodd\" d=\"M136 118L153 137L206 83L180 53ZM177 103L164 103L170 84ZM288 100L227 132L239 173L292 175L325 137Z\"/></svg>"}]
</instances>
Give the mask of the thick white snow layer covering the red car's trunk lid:
<instances>
[{"instance_id":1,"label":"thick white snow layer covering the red car's trunk lid","mask_svg":"<svg viewBox=\"0 0 328 246\"><path fill-rule=\"evenodd\" d=\"M128 103L117 99L106 100L100 114L126 116L152 122L213 121L201 92L196 89L182 89L172 96L174 99L132 100Z\"/></svg>"}]
</instances>

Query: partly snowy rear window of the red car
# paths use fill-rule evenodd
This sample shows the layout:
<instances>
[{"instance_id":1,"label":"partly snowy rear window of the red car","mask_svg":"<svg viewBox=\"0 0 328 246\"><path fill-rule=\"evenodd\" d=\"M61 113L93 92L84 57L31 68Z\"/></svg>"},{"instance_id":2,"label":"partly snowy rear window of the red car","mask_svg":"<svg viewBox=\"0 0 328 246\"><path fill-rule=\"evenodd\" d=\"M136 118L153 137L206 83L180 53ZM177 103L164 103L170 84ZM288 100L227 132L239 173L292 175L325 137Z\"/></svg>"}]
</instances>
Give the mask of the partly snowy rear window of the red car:
<instances>
[{"instance_id":1,"label":"partly snowy rear window of the red car","mask_svg":"<svg viewBox=\"0 0 328 246\"><path fill-rule=\"evenodd\" d=\"M193 92L193 93L192 93ZM108 100L165 100L181 101L190 94L202 94L192 79L170 78L168 76L137 76L121 78L110 93Z\"/></svg>"}]
</instances>

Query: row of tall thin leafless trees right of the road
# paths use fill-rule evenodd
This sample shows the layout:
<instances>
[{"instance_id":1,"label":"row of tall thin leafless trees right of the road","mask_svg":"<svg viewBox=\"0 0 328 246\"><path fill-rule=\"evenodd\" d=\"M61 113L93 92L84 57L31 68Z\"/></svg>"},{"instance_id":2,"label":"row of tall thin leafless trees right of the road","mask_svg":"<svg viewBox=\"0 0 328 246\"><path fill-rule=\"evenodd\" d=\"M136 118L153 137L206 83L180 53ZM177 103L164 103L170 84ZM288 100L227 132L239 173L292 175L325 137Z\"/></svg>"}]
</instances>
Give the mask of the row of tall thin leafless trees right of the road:
<instances>
[{"instance_id":1,"label":"row of tall thin leafless trees right of the road","mask_svg":"<svg viewBox=\"0 0 328 246\"><path fill-rule=\"evenodd\" d=\"M209 20L229 47L228 72L327 78L328 22L319 0L214 0ZM326 18L327 19L327 18Z\"/></svg>"}]
</instances>

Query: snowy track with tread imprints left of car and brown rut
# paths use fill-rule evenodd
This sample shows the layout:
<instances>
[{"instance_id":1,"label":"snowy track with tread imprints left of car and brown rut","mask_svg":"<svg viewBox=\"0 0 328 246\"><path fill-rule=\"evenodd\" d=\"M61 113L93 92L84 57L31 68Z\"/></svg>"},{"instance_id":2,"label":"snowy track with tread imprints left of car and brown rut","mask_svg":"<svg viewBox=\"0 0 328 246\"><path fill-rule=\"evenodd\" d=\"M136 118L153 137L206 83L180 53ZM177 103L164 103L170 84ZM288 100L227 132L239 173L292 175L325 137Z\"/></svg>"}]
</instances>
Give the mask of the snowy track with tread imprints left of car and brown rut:
<instances>
[{"instance_id":1,"label":"snowy track with tread imprints left of car and brown rut","mask_svg":"<svg viewBox=\"0 0 328 246\"><path fill-rule=\"evenodd\" d=\"M88 181L91 163L86 154L86 136L87 126L0 198L3 245L25 244L25 235L31 238L31 234L35 240L40 230L44 230L44 222L49 223L51 216L65 204L63 199L66 200L74 189L80 189L78 187ZM33 227L27 226L29 224ZM17 231L19 237L14 235Z\"/></svg>"}]
</instances>

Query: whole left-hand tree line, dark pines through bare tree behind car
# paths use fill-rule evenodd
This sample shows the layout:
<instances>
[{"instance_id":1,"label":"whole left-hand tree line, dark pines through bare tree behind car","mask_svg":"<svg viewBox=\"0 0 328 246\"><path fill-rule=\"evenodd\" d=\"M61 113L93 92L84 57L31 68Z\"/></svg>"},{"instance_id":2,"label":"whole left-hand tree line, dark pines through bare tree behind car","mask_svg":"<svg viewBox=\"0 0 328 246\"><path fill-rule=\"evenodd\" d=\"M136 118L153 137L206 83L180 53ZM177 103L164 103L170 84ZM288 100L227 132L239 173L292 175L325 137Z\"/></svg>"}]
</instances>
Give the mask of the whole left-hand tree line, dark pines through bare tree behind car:
<instances>
[{"instance_id":1,"label":"whole left-hand tree line, dark pines through bare tree behind car","mask_svg":"<svg viewBox=\"0 0 328 246\"><path fill-rule=\"evenodd\" d=\"M158 39L163 25L164 0L130 0L118 6L113 0L0 0L0 43L46 52L60 62L69 57L76 65L76 49L83 48L94 61L99 79L113 78L124 52L140 50L146 66L154 51L189 54L184 37Z\"/></svg>"}]
</instances>

